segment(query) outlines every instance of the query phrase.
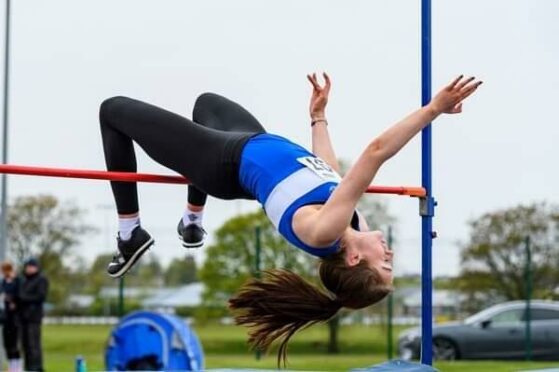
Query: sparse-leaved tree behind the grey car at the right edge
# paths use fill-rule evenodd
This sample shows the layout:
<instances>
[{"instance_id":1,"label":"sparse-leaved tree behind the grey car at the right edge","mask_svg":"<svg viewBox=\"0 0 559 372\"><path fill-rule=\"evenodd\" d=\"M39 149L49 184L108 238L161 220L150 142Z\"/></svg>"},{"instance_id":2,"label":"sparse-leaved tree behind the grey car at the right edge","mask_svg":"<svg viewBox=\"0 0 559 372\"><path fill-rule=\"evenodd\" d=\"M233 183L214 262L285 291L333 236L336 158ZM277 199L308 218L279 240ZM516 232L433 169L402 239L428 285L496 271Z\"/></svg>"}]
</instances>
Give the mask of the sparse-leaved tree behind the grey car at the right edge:
<instances>
[{"instance_id":1,"label":"sparse-leaved tree behind the grey car at the right edge","mask_svg":"<svg viewBox=\"0 0 559 372\"><path fill-rule=\"evenodd\" d=\"M462 248L459 287L469 303L526 297L525 238L531 238L534 296L552 297L559 282L559 209L546 203L518 205L470 221ZM476 310L476 309L469 309Z\"/></svg>"}]
</instances>

